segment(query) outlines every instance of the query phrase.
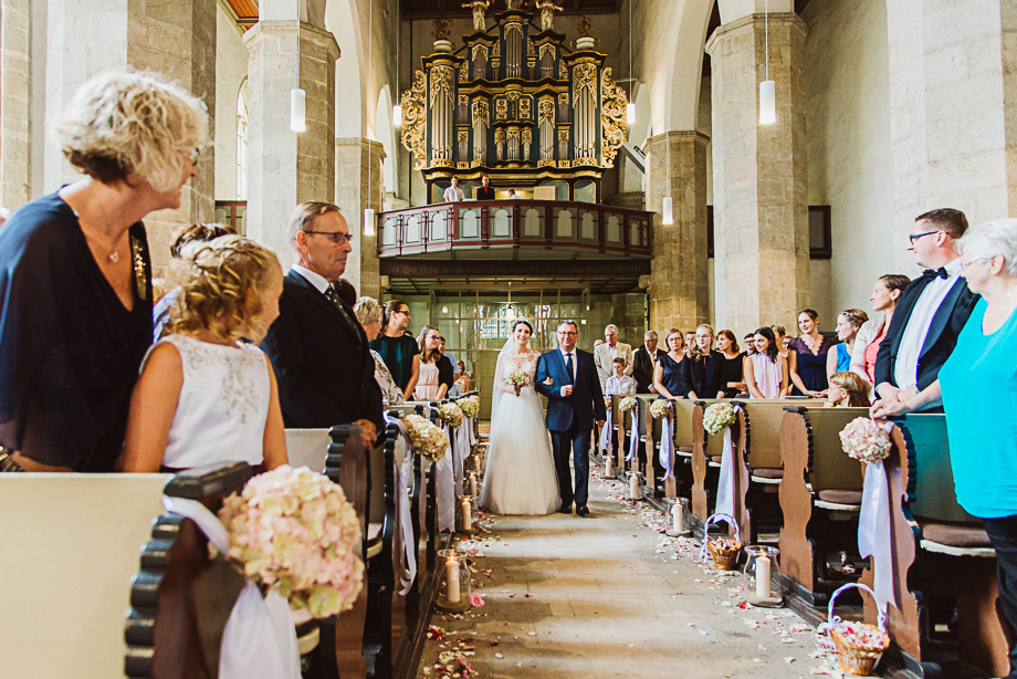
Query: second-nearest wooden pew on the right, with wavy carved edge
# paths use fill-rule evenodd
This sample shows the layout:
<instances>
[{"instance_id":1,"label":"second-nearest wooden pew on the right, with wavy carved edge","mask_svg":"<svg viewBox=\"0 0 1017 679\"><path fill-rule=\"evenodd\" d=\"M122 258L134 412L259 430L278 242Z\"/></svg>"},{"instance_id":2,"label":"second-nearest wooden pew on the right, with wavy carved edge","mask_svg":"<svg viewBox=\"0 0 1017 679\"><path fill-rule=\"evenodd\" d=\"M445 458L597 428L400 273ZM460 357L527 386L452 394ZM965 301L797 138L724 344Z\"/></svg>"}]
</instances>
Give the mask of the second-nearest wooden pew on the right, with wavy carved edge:
<instances>
[{"instance_id":1,"label":"second-nearest wooden pew on the right, with wavy carved edge","mask_svg":"<svg viewBox=\"0 0 1017 679\"><path fill-rule=\"evenodd\" d=\"M807 408L787 401L784 410L780 567L789 593L808 605L825 606L833 589L857 579L857 574L830 572L826 557L839 551L858 552L857 516L840 519L860 509L862 470L843 451L840 431L855 418L868 417L869 410Z\"/></svg>"}]
</instances>

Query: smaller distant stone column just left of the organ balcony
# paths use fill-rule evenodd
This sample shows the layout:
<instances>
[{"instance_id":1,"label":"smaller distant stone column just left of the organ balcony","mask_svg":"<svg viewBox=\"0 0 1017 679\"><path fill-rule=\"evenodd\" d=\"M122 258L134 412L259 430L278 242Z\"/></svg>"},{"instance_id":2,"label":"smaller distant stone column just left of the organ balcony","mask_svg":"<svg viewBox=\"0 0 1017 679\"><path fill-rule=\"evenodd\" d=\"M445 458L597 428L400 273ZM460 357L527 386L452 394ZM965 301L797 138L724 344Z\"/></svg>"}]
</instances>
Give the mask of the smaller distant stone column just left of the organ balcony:
<instances>
[{"instance_id":1,"label":"smaller distant stone column just left of the organ balcony","mask_svg":"<svg viewBox=\"0 0 1017 679\"><path fill-rule=\"evenodd\" d=\"M380 300L377 226L375 236L364 236L364 210L378 213L382 209L385 147L371 139L342 137L335 140L335 202L343 209L349 232L356 233L343 278L358 294Z\"/></svg>"}]
</instances>

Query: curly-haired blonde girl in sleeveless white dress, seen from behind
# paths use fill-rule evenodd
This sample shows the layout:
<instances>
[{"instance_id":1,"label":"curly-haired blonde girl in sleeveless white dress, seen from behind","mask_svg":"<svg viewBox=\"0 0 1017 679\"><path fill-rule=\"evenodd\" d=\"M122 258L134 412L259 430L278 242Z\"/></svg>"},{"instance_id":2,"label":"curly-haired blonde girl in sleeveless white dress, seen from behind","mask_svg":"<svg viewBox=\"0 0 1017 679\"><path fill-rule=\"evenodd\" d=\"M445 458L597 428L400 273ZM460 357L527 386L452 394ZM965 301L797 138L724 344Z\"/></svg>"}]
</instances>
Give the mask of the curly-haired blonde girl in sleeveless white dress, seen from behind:
<instances>
[{"instance_id":1,"label":"curly-haired blonde girl in sleeveless white dress, seen from behind","mask_svg":"<svg viewBox=\"0 0 1017 679\"><path fill-rule=\"evenodd\" d=\"M175 267L179 294L134 388L124 470L285 464L275 375L256 345L279 316L279 260L223 236L188 247Z\"/></svg>"}]
</instances>

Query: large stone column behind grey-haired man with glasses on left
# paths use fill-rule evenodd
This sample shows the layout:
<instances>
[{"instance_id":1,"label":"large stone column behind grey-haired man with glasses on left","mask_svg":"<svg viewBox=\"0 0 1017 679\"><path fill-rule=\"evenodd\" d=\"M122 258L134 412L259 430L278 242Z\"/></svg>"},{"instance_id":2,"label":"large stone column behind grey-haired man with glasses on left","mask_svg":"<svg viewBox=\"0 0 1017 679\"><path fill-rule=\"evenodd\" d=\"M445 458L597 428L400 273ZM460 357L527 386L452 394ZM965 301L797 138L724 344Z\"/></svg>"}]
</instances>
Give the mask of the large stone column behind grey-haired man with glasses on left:
<instances>
[{"instance_id":1,"label":"large stone column behind grey-haired man with glasses on left","mask_svg":"<svg viewBox=\"0 0 1017 679\"><path fill-rule=\"evenodd\" d=\"M328 31L260 21L248 46L248 234L292 262L286 221L298 203L335 194L335 62ZM290 91L306 92L306 132L290 129ZM348 217L347 217L348 219ZM353 230L353 224L350 224Z\"/></svg>"}]
</instances>

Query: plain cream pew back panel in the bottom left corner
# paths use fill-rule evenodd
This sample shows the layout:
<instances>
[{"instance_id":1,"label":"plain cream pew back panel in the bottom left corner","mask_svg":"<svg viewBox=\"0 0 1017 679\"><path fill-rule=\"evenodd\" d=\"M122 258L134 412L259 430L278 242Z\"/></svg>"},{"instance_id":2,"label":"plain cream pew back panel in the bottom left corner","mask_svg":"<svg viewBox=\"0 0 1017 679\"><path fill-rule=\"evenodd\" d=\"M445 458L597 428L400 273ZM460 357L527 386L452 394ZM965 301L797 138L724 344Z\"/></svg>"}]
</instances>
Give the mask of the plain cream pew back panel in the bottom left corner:
<instances>
[{"instance_id":1,"label":"plain cream pew back panel in the bottom left corner","mask_svg":"<svg viewBox=\"0 0 1017 679\"><path fill-rule=\"evenodd\" d=\"M0 473L0 675L124 676L127 584L167 478Z\"/></svg>"}]
</instances>

